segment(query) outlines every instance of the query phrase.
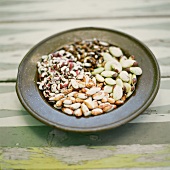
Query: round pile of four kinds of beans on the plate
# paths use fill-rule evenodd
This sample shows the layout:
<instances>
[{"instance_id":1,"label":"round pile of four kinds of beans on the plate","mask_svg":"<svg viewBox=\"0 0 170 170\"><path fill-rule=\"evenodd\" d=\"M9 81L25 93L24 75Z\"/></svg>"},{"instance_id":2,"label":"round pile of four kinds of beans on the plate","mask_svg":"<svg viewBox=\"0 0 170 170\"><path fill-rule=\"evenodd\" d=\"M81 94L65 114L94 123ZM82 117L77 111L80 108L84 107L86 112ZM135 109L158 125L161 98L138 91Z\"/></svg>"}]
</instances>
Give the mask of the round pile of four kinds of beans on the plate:
<instances>
[{"instance_id":1,"label":"round pile of four kinds of beans on the plate","mask_svg":"<svg viewBox=\"0 0 170 170\"><path fill-rule=\"evenodd\" d=\"M124 104L142 74L133 55L110 43L82 40L46 54L37 63L37 85L58 110L76 117L97 116Z\"/></svg>"}]
</instances>

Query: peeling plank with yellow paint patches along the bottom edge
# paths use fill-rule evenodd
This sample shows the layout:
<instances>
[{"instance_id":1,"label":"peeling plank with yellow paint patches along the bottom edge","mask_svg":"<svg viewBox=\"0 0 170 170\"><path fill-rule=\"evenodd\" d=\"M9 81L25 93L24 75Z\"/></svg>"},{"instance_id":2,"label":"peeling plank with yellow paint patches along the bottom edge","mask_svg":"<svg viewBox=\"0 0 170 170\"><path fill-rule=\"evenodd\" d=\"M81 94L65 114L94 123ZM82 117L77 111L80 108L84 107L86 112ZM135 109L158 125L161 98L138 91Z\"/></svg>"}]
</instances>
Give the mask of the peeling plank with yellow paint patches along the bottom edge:
<instances>
[{"instance_id":1,"label":"peeling plank with yellow paint patches along the bottom edge","mask_svg":"<svg viewBox=\"0 0 170 170\"><path fill-rule=\"evenodd\" d=\"M0 152L2 169L170 168L170 145L0 148Z\"/></svg>"}]
</instances>

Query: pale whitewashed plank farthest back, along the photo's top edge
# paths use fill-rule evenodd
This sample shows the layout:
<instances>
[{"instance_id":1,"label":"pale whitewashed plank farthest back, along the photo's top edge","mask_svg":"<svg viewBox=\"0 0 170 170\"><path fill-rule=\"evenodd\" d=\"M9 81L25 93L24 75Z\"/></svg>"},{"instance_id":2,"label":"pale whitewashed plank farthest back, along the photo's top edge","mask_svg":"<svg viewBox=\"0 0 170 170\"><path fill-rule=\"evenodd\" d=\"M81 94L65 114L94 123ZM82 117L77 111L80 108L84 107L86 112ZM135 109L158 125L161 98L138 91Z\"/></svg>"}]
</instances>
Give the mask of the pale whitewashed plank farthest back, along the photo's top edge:
<instances>
[{"instance_id":1,"label":"pale whitewashed plank farthest back, along the photo's top edge","mask_svg":"<svg viewBox=\"0 0 170 170\"><path fill-rule=\"evenodd\" d=\"M1 2L2 3L2 2ZM27 8L25 8L27 6ZM70 8L70 6L72 8ZM57 8L56 10L56 7ZM82 8L83 7L83 8ZM24 10L23 10L24 9ZM65 10L63 10L65 9ZM90 18L127 18L169 16L169 2L164 1L135 1L124 3L124 0L67 0L67 1L7 1L0 6L0 21L37 21L52 19L90 19ZM95 12L94 12L95 11ZM10 15L9 15L9 14ZM13 15L12 15L13 14Z\"/></svg>"}]
</instances>

